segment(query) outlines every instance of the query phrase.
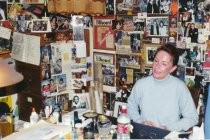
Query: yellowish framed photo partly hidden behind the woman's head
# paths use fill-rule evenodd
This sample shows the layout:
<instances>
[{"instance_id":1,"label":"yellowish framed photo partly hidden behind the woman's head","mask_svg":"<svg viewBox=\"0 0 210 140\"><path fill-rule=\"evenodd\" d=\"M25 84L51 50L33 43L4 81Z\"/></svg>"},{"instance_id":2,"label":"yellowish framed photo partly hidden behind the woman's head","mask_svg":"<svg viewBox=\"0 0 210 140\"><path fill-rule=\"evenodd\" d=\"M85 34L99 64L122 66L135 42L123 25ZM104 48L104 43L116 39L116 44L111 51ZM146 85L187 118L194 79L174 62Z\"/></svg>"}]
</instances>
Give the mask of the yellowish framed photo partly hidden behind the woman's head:
<instances>
[{"instance_id":1,"label":"yellowish framed photo partly hidden behind the woman's head","mask_svg":"<svg viewBox=\"0 0 210 140\"><path fill-rule=\"evenodd\" d=\"M152 66L156 50L160 46L160 44L144 44L146 66Z\"/></svg>"}]
</instances>

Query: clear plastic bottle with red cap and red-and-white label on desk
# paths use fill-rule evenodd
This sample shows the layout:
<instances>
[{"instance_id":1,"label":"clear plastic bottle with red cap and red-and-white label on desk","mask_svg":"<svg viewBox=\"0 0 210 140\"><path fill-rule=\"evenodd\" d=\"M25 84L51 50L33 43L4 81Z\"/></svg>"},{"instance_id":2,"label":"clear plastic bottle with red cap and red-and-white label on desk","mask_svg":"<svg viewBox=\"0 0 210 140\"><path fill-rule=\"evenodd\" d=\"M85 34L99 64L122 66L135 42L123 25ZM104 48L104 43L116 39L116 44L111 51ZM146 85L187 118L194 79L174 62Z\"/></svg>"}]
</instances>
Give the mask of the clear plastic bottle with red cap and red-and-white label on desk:
<instances>
[{"instance_id":1,"label":"clear plastic bottle with red cap and red-and-white label on desk","mask_svg":"<svg viewBox=\"0 0 210 140\"><path fill-rule=\"evenodd\" d=\"M122 106L119 117L117 118L117 139L128 140L130 139L130 123L131 120L127 114L127 108Z\"/></svg>"}]
</instances>

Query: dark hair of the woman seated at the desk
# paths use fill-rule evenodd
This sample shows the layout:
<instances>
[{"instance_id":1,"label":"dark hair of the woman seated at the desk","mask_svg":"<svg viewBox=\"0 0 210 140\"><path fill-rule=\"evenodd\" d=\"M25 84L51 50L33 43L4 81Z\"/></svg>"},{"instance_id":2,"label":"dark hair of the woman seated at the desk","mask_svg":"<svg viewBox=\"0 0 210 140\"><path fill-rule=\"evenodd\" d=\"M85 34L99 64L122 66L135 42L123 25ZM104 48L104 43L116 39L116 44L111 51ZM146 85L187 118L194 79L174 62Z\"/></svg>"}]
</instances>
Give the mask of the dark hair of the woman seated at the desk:
<instances>
[{"instance_id":1,"label":"dark hair of the woman seated at the desk","mask_svg":"<svg viewBox=\"0 0 210 140\"><path fill-rule=\"evenodd\" d=\"M168 54L170 54L170 56L173 59L173 66L177 65L178 61L179 61L179 54L178 54L178 50L177 48L172 45L172 44L165 44L162 45L161 47L159 47L155 53L155 56L157 55L158 52L160 51L165 51Z\"/></svg>"}]
</instances>

